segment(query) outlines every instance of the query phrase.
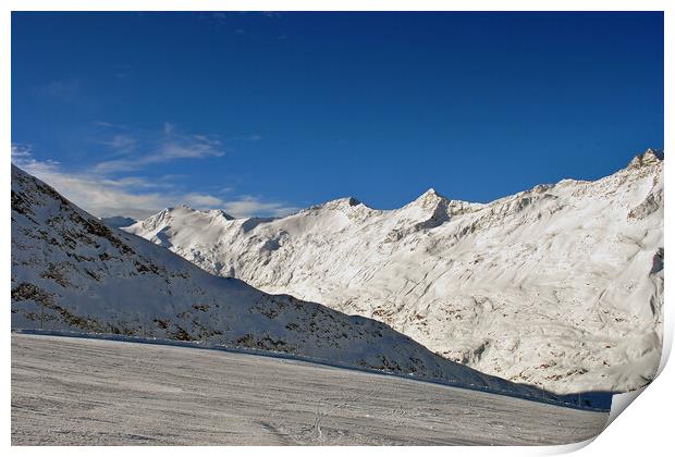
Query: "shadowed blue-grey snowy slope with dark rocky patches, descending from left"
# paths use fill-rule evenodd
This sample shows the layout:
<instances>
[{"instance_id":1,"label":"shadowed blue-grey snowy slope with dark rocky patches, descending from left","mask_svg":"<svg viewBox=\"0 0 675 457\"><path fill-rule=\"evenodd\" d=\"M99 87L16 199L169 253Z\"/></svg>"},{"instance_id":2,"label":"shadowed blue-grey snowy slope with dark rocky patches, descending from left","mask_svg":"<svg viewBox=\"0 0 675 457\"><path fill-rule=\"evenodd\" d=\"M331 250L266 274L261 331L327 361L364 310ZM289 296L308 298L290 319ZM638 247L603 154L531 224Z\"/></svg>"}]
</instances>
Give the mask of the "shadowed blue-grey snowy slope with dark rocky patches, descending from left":
<instances>
[{"instance_id":1,"label":"shadowed blue-grey snowy slope with dark rocky patches, descending from left","mask_svg":"<svg viewBox=\"0 0 675 457\"><path fill-rule=\"evenodd\" d=\"M103 225L15 166L12 328L199 341L545 397L446 360L381 322L213 276Z\"/></svg>"}]
</instances>

